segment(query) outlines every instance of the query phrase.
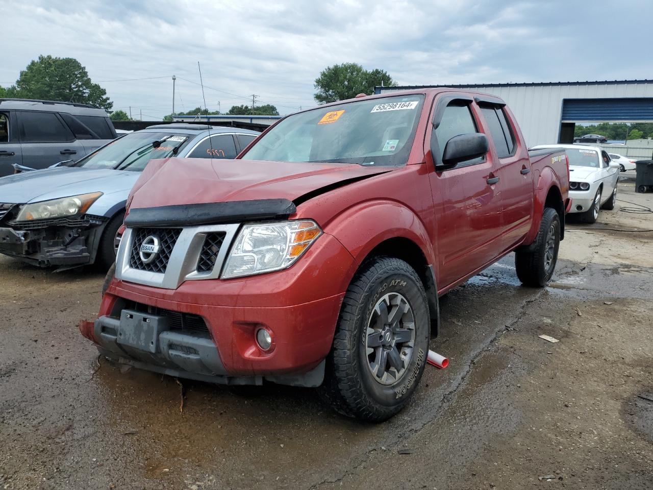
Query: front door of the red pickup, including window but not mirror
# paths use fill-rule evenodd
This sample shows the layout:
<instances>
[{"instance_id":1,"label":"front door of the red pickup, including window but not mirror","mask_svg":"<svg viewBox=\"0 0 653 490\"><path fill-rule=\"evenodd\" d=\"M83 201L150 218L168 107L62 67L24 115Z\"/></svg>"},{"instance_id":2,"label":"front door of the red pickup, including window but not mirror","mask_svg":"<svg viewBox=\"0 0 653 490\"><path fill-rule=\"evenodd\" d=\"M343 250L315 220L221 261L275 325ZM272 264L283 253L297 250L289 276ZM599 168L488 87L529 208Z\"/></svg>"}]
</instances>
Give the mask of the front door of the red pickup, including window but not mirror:
<instances>
[{"instance_id":1,"label":"front door of the red pickup, including window but not mirror","mask_svg":"<svg viewBox=\"0 0 653 490\"><path fill-rule=\"evenodd\" d=\"M438 287L447 287L487 265L501 236L501 199L496 191L498 161L483 157L438 169L449 139L483 132L471 97L443 94L436 101L430 150L436 168L430 174L436 213ZM427 138L428 141L428 138Z\"/></svg>"}]
</instances>

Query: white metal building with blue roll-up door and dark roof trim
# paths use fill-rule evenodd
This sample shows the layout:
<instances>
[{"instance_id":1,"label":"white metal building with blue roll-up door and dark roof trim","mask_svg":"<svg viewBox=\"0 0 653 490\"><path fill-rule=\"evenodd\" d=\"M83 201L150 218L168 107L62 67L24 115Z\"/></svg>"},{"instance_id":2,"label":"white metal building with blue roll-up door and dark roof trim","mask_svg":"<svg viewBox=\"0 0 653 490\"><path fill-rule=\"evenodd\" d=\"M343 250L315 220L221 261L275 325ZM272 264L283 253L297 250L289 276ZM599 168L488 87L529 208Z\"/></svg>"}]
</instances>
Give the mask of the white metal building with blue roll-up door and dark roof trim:
<instances>
[{"instance_id":1,"label":"white metal building with blue roll-up door and dark roof trim","mask_svg":"<svg viewBox=\"0 0 653 490\"><path fill-rule=\"evenodd\" d=\"M577 122L653 122L653 80L377 87L376 93L451 87L501 97L526 144L571 143Z\"/></svg>"}]
</instances>

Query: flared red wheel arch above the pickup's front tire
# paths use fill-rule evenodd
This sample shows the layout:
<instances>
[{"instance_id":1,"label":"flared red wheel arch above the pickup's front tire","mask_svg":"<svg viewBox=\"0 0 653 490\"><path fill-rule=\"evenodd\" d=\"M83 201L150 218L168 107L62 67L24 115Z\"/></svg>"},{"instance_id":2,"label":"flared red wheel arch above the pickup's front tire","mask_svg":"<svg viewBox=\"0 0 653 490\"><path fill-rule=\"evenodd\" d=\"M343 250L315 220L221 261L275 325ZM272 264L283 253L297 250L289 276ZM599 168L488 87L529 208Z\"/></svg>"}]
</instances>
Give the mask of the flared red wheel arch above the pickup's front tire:
<instances>
[{"instance_id":1,"label":"flared red wheel arch above the pickup's front tire","mask_svg":"<svg viewBox=\"0 0 653 490\"><path fill-rule=\"evenodd\" d=\"M360 265L379 244L390 238L415 242L429 264L435 254L419 216L395 201L366 201L342 212L328 223L325 232L336 237Z\"/></svg>"}]
</instances>

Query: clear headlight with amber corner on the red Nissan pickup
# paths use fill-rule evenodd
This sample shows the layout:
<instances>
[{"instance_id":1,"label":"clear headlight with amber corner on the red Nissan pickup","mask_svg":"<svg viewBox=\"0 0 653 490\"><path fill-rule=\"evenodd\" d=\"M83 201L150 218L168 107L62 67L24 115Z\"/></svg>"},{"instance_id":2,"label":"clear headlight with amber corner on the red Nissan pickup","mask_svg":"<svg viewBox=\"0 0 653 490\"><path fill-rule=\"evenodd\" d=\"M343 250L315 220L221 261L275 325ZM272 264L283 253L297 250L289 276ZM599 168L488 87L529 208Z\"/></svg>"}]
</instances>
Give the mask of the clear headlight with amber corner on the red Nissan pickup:
<instances>
[{"instance_id":1,"label":"clear headlight with amber corner on the red Nissan pickup","mask_svg":"<svg viewBox=\"0 0 653 490\"><path fill-rule=\"evenodd\" d=\"M286 269L320 235L322 230L310 220L244 225L231 248L222 278Z\"/></svg>"}]
</instances>

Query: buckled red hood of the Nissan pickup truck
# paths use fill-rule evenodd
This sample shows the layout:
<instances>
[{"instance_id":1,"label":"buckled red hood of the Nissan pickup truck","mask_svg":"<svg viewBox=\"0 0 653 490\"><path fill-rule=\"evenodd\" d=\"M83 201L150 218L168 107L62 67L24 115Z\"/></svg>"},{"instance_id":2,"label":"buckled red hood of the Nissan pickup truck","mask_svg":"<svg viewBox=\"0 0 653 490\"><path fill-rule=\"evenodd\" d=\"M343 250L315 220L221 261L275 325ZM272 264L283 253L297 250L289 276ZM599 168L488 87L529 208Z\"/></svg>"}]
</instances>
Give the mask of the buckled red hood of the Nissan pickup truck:
<instances>
[{"instance_id":1,"label":"buckled red hood of the Nissan pickup truck","mask_svg":"<svg viewBox=\"0 0 653 490\"><path fill-rule=\"evenodd\" d=\"M131 208L255 199L306 200L394 169L352 163L170 158L150 162L136 182Z\"/></svg>"}]
</instances>

